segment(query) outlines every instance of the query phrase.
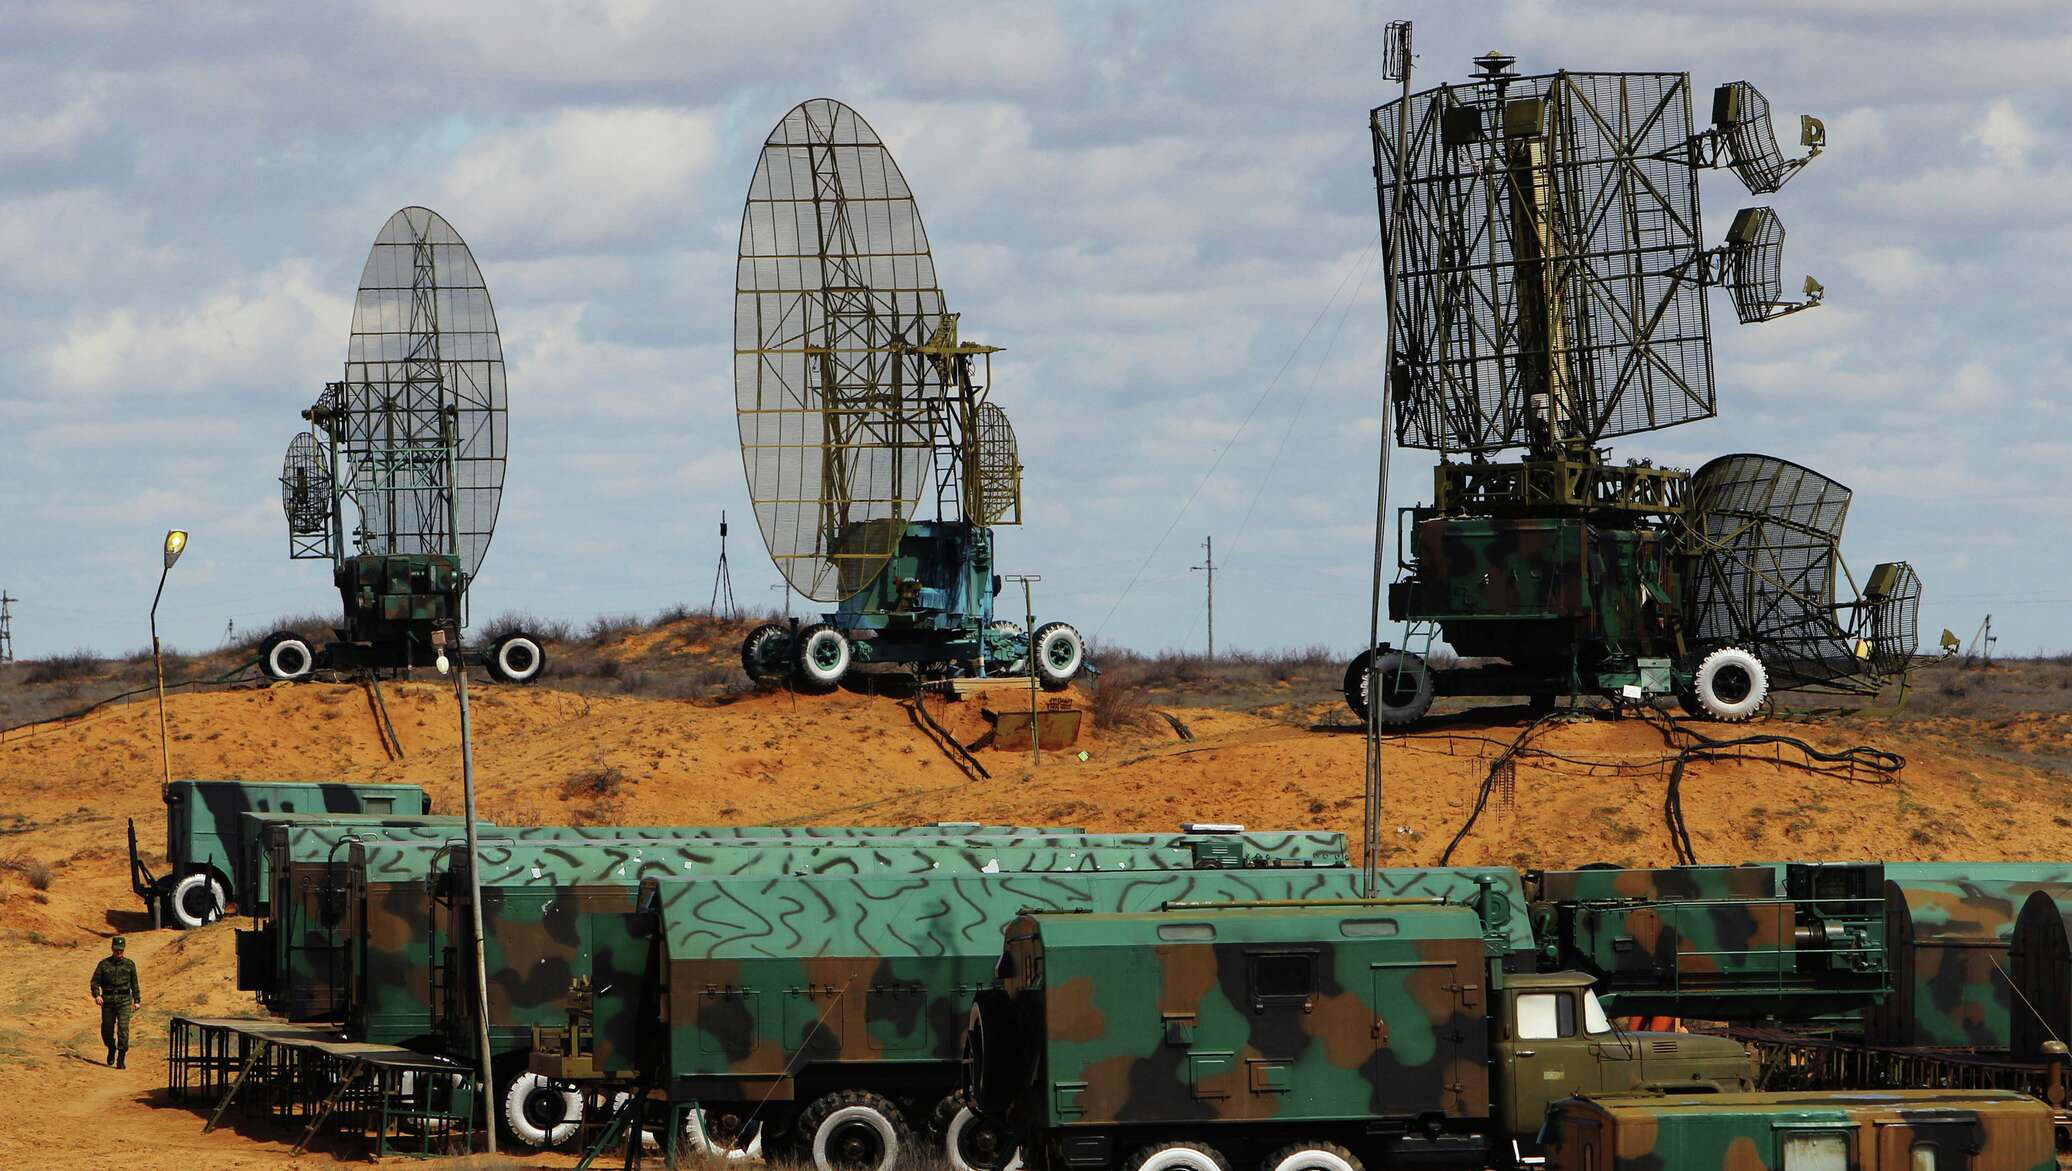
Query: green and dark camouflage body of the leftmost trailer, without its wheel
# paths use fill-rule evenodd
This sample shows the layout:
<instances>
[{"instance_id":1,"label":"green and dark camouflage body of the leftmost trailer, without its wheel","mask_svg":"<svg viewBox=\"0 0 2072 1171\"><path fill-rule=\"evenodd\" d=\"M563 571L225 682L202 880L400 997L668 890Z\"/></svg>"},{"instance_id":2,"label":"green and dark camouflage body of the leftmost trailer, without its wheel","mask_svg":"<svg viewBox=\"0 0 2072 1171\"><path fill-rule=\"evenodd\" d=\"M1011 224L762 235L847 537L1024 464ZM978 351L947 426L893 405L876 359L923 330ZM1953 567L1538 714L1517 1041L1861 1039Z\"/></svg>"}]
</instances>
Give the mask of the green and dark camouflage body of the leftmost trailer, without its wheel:
<instances>
[{"instance_id":1,"label":"green and dark camouflage body of the leftmost trailer, without its wheel","mask_svg":"<svg viewBox=\"0 0 2072 1171\"><path fill-rule=\"evenodd\" d=\"M431 796L416 786L346 781L172 781L166 786L166 881L213 873L230 902L247 897L236 885L244 856L240 815L247 812L431 812ZM166 891L157 891L160 895ZM153 897L145 893L145 897Z\"/></svg>"}]
</instances>

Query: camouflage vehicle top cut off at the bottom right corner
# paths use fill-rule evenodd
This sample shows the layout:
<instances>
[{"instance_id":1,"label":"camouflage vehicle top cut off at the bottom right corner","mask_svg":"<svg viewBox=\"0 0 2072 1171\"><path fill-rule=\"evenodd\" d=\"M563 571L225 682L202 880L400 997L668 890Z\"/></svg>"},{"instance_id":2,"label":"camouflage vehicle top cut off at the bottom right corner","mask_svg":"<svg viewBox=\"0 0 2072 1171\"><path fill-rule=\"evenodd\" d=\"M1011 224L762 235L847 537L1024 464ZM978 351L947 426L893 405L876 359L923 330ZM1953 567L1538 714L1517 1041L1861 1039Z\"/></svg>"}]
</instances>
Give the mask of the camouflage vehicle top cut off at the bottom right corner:
<instances>
[{"instance_id":1,"label":"camouflage vehicle top cut off at the bottom right corner","mask_svg":"<svg viewBox=\"0 0 2072 1171\"><path fill-rule=\"evenodd\" d=\"M1995 1090L1571 1098L1550 1171L2055 1171L2051 1111Z\"/></svg>"}]
</instances>

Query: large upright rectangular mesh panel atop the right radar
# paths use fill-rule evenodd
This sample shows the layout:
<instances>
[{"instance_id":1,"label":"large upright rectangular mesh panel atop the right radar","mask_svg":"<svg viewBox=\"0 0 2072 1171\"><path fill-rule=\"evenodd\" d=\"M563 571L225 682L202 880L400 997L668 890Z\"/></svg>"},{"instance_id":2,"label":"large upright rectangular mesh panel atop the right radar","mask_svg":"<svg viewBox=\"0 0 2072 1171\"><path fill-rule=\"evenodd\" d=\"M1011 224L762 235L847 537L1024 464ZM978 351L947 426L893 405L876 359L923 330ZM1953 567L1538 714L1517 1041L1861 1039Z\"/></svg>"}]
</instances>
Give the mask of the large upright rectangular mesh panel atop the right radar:
<instances>
[{"instance_id":1,"label":"large upright rectangular mesh panel atop the right radar","mask_svg":"<svg viewBox=\"0 0 2072 1171\"><path fill-rule=\"evenodd\" d=\"M1492 452L1709 419L1689 79L1556 73L1407 102L1401 158L1403 102L1372 120L1397 439Z\"/></svg>"}]
</instances>

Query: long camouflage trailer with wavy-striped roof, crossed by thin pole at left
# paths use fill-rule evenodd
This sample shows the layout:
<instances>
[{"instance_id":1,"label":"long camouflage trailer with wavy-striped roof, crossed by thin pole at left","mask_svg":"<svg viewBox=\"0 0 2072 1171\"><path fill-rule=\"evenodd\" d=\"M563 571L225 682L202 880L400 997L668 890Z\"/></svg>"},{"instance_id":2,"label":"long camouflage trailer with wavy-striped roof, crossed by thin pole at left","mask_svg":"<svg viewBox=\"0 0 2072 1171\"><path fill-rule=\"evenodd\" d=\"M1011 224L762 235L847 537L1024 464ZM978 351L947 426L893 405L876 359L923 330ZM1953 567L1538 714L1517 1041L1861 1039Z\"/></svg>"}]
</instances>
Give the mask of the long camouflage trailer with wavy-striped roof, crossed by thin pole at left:
<instances>
[{"instance_id":1,"label":"long camouflage trailer with wavy-striped roof, crossed by thin pole at left","mask_svg":"<svg viewBox=\"0 0 2072 1171\"><path fill-rule=\"evenodd\" d=\"M1177 835L961 835L704 839L704 841L485 841L483 920L489 968L489 1038L499 1092L516 1138L566 1140L580 1098L524 1074L537 1024L562 1024L588 989L651 991L649 962L659 904L640 902L657 881L696 885L742 875L818 875L860 881L912 875L1115 873L1258 866L1291 858L1345 864L1336 833ZM466 866L437 846L354 844L348 862L346 1032L356 1040L450 1053L477 1045ZM356 916L356 918L350 918ZM620 1003L620 1001L611 1001ZM638 1003L638 1001L632 1001ZM609 1013L605 1013L609 1018ZM617 1036L607 1028L607 1038ZM609 1040L607 1040L609 1047Z\"/></svg>"}]
</instances>

